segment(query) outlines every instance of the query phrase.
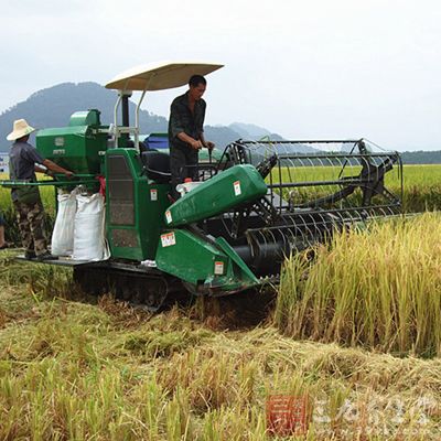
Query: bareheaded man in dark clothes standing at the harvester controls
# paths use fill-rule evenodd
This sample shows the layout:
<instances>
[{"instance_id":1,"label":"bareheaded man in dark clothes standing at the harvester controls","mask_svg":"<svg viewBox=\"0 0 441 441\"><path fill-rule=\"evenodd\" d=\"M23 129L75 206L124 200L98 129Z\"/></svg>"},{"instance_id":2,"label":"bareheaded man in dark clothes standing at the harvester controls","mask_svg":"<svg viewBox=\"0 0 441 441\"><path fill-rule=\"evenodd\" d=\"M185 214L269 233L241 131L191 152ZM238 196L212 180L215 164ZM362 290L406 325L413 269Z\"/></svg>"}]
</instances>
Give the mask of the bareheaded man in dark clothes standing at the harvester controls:
<instances>
[{"instance_id":1,"label":"bareheaded man in dark clothes standing at the harvester controls","mask_svg":"<svg viewBox=\"0 0 441 441\"><path fill-rule=\"evenodd\" d=\"M202 75L193 75L189 80L189 90L175 98L170 108L170 171L174 200L180 197L178 184L186 178L197 181L200 149L213 150L215 147L204 138L206 103L202 96L205 89L206 79Z\"/></svg>"}]
</instances>

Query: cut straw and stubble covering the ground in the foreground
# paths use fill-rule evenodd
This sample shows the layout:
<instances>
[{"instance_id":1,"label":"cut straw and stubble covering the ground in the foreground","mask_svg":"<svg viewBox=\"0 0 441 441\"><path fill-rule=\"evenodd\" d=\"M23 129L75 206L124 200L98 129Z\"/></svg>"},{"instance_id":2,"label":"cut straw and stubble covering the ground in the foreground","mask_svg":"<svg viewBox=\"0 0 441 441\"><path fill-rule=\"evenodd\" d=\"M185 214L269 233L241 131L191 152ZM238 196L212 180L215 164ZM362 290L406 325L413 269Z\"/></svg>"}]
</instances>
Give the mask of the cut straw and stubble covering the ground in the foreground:
<instances>
[{"instance_id":1,"label":"cut straw and stubble covering the ground in the foreground","mask_svg":"<svg viewBox=\"0 0 441 441\"><path fill-rule=\"evenodd\" d=\"M0 439L266 440L266 398L280 392L309 398L309 440L439 439L440 359L78 303L64 271L71 300L46 290L43 267L24 268L0 279Z\"/></svg>"}]
</instances>

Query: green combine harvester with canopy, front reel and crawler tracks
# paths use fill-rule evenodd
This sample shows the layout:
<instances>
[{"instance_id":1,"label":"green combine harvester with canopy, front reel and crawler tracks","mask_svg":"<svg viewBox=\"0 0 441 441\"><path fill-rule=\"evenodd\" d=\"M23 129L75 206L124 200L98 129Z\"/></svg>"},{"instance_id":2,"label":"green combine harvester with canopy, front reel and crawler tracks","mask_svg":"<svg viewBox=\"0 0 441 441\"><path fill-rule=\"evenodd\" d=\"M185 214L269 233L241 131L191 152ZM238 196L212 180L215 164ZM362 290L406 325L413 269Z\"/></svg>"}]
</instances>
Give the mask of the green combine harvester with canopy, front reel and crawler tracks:
<instances>
[{"instance_id":1,"label":"green combine harvester with canopy, front reel and crawler tracks","mask_svg":"<svg viewBox=\"0 0 441 441\"><path fill-rule=\"evenodd\" d=\"M171 203L168 153L138 148L141 101L149 90L180 87L193 74L220 67L161 63L131 69L106 85L118 90L111 126L100 123L98 110L88 110L75 112L66 128L39 131L36 149L74 171L76 181L35 185L72 190L75 184L90 194L98 191L98 175L106 181L103 234L109 257L46 263L72 266L85 291L114 290L155 311L183 288L220 297L277 282L287 256L335 230L400 214L402 195L385 186L385 174L401 170L400 158L364 139L237 140L215 163L201 163L200 182ZM135 126L129 125L132 92L141 93ZM3 182L23 184L29 185Z\"/></svg>"}]
</instances>

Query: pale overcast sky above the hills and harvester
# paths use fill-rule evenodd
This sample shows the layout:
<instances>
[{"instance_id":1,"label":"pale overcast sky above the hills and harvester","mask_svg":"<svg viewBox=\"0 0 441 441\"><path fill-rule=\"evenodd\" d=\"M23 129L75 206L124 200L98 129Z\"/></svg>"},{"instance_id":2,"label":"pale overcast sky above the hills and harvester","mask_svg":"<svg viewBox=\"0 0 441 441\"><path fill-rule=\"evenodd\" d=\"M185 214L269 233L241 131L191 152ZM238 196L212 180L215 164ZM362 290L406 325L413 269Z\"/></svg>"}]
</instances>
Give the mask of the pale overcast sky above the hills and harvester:
<instances>
[{"instance_id":1,"label":"pale overcast sky above the hills and harvester","mask_svg":"<svg viewBox=\"0 0 441 441\"><path fill-rule=\"evenodd\" d=\"M60 83L206 61L225 64L207 76L206 123L441 150L437 0L0 0L0 112ZM168 117L183 92L149 93L143 108Z\"/></svg>"}]
</instances>

